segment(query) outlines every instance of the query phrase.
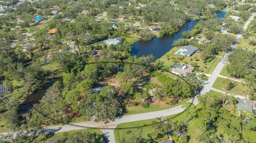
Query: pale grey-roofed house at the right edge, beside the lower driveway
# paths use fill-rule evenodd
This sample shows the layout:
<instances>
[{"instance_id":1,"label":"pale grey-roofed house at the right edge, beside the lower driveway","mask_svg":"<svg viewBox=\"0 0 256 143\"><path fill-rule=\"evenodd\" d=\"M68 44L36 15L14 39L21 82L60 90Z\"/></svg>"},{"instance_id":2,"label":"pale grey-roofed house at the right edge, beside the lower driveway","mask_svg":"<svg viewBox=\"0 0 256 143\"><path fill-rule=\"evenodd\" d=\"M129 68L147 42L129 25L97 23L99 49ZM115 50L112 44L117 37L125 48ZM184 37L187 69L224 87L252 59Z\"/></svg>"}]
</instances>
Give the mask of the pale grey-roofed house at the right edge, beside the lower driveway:
<instances>
[{"instance_id":1,"label":"pale grey-roofed house at the right edge, beside the lower driveway","mask_svg":"<svg viewBox=\"0 0 256 143\"><path fill-rule=\"evenodd\" d=\"M256 107L246 99L239 99L237 103L237 113L240 114L241 111L248 111L256 114Z\"/></svg>"}]
</instances>

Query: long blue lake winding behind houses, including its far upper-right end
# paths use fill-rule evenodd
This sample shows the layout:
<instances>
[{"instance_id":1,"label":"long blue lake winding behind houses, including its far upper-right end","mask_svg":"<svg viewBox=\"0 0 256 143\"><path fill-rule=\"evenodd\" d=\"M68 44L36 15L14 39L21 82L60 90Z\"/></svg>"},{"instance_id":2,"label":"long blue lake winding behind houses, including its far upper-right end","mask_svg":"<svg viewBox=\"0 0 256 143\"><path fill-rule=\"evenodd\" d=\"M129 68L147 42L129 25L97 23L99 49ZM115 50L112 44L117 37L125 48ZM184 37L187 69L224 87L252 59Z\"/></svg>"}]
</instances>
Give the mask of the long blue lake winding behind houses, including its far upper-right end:
<instances>
[{"instance_id":1,"label":"long blue lake winding behind houses, including its far upper-right end","mask_svg":"<svg viewBox=\"0 0 256 143\"><path fill-rule=\"evenodd\" d=\"M221 11L217 13L218 18L225 17L227 12ZM173 48L172 44L174 40L183 38L182 32L192 30L200 20L190 21L180 29L178 33L173 36L166 36L160 38L154 38L153 40L143 41L139 40L133 43L131 55L141 57L152 54L155 58L162 57L165 53L169 52Z\"/></svg>"}]
</instances>

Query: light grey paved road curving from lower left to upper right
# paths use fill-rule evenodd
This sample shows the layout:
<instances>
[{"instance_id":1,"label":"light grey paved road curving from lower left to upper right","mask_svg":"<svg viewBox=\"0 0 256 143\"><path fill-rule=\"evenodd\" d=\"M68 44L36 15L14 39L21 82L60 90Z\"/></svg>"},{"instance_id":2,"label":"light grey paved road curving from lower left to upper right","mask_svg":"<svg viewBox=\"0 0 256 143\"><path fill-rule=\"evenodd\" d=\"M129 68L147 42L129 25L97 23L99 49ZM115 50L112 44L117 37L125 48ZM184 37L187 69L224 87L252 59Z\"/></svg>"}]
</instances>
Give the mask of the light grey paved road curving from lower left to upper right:
<instances>
[{"instance_id":1,"label":"light grey paved road curving from lower left to upper right","mask_svg":"<svg viewBox=\"0 0 256 143\"><path fill-rule=\"evenodd\" d=\"M253 14L250 19L246 22L244 29L247 28L251 20L253 20L255 14ZM241 38L242 35L237 35L236 42ZM236 46L236 43L231 45L231 48L234 48ZM212 74L210 75L209 79L206 81L207 84L204 85L201 94L205 94L206 92L209 92L212 89L213 83L218 78L221 70L223 69L224 65L227 63L228 56L231 54L231 51L227 52L225 56L223 56L222 60L219 62L219 64L216 66ZM189 102L192 102L192 100L189 100ZM194 105L198 104L197 97L194 98L193 101ZM181 105L169 108L167 110L162 111L155 111L155 112L148 112L148 113L141 113L141 114L134 114L134 115L124 115L121 119L116 119L115 121L110 121L108 124L105 124L104 122L94 122L94 121L86 121L86 122L79 122L74 123L74 125L55 125L52 127L48 127L49 129L58 129L57 132L65 132L65 131L72 131L72 130L79 130L79 129L85 129L85 127L93 127L93 128L105 128L100 129L103 133L106 133L108 136L108 140L110 143L115 142L114 137L114 128L121 123L127 123L127 122L133 122L133 121L141 121L141 120L147 120L147 119L155 119L156 117L160 116L170 116L174 114L181 113L183 108ZM84 126L84 127L79 127ZM113 129L106 129L106 128L113 128Z\"/></svg>"}]
</instances>

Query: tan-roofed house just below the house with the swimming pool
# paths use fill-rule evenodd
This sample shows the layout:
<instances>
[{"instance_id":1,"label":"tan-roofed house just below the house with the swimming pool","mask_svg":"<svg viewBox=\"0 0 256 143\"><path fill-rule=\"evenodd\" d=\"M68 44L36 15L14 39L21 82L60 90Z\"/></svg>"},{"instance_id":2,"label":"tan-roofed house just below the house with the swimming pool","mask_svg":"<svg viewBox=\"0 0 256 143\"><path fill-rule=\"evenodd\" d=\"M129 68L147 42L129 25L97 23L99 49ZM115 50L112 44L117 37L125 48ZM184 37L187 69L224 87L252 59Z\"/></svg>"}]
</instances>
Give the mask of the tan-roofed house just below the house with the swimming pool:
<instances>
[{"instance_id":1,"label":"tan-roofed house just below the house with the swimming pool","mask_svg":"<svg viewBox=\"0 0 256 143\"><path fill-rule=\"evenodd\" d=\"M179 75L186 75L187 73L192 73L195 68L192 65L188 64L174 64L172 73L179 74Z\"/></svg>"}]
</instances>

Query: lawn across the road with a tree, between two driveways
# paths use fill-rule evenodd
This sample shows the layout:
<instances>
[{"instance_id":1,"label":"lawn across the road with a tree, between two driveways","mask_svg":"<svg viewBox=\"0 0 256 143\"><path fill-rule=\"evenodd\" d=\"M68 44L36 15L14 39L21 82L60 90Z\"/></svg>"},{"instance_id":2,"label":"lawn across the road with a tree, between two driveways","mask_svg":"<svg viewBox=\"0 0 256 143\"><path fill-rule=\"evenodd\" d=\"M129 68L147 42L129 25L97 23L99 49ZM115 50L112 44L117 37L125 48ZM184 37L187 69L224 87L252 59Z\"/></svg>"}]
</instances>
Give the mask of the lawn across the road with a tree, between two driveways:
<instances>
[{"instance_id":1,"label":"lawn across the road with a tree, between two driveways","mask_svg":"<svg viewBox=\"0 0 256 143\"><path fill-rule=\"evenodd\" d=\"M244 95L244 96L246 95L247 93L246 88L242 85L242 83L233 81L233 83L235 83L235 87L232 88L231 90L226 90L225 85L222 83L224 80L226 79L218 77L215 83L213 84L213 88L225 91L229 94Z\"/></svg>"}]
</instances>

